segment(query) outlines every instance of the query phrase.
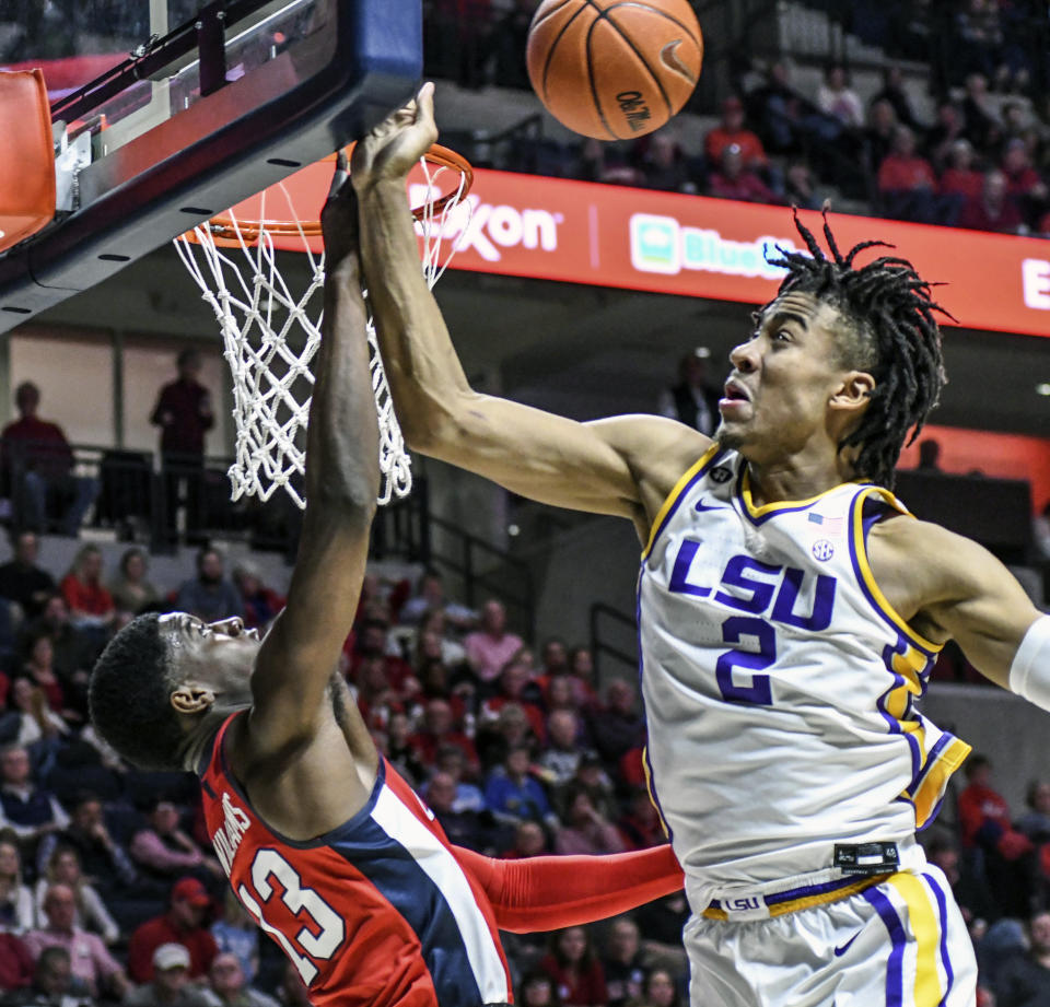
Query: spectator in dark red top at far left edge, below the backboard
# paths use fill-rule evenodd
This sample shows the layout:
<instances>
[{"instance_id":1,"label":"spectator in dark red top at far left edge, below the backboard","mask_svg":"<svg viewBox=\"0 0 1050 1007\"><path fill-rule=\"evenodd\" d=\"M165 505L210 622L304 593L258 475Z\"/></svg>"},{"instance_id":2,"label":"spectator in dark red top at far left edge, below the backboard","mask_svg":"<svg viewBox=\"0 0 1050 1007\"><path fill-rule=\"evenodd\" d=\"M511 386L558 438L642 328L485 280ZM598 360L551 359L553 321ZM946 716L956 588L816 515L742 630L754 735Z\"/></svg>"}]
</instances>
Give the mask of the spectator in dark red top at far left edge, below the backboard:
<instances>
[{"instance_id":1,"label":"spectator in dark red top at far left edge, below the backboard","mask_svg":"<svg viewBox=\"0 0 1050 1007\"><path fill-rule=\"evenodd\" d=\"M36 411L40 389L23 382L14 390L19 419L0 433L0 459L14 496L15 527L77 537L98 485L73 475L73 449L62 428Z\"/></svg>"}]
</instances>

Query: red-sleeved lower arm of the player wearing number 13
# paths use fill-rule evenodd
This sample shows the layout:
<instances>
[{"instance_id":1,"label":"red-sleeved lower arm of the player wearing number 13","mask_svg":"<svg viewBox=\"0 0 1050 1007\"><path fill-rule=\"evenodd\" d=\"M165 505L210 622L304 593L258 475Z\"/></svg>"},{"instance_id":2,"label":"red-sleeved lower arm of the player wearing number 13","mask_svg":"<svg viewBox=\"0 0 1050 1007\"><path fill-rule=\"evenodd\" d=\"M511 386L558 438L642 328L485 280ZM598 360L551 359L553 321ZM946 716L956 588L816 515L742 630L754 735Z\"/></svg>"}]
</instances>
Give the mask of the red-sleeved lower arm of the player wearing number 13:
<instances>
[{"instance_id":1,"label":"red-sleeved lower arm of the player wearing number 13","mask_svg":"<svg viewBox=\"0 0 1050 1007\"><path fill-rule=\"evenodd\" d=\"M501 930L532 934L616 916L682 886L670 846L611 856L498 860L462 846L459 866L485 890Z\"/></svg>"}]
</instances>

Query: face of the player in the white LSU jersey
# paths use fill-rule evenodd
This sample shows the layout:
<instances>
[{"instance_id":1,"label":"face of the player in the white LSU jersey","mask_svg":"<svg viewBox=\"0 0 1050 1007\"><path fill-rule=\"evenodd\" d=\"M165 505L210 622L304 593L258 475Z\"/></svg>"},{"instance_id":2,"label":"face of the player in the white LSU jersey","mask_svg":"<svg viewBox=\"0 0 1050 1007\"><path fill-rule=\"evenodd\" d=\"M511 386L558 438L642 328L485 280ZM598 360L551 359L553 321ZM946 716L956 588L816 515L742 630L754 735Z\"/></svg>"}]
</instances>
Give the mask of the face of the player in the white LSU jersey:
<instances>
[{"instance_id":1,"label":"face of the player in the white LSU jersey","mask_svg":"<svg viewBox=\"0 0 1050 1007\"><path fill-rule=\"evenodd\" d=\"M850 373L839 364L839 313L810 294L778 297L730 354L715 434L750 461L774 462L827 435L828 403Z\"/></svg>"}]
</instances>

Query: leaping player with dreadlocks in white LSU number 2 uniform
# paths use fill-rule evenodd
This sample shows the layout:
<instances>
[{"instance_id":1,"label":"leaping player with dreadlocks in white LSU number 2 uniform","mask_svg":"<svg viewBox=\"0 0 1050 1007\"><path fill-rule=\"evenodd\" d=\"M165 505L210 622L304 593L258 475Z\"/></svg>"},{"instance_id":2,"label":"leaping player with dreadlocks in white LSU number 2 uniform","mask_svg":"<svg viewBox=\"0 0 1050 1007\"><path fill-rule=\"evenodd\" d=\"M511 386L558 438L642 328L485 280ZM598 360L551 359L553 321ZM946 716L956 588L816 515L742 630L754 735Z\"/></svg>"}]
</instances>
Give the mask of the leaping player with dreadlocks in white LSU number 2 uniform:
<instances>
[{"instance_id":1,"label":"leaping player with dreadlocks in white LSU number 2 uniform","mask_svg":"<svg viewBox=\"0 0 1050 1007\"><path fill-rule=\"evenodd\" d=\"M693 1007L968 1007L973 953L914 833L967 746L914 710L955 639L1050 710L1050 617L985 550L886 487L944 380L930 289L867 245L785 253L731 354L715 441L475 393L421 279L408 171L432 91L353 180L408 443L559 506L631 519L652 784L686 871Z\"/></svg>"}]
</instances>

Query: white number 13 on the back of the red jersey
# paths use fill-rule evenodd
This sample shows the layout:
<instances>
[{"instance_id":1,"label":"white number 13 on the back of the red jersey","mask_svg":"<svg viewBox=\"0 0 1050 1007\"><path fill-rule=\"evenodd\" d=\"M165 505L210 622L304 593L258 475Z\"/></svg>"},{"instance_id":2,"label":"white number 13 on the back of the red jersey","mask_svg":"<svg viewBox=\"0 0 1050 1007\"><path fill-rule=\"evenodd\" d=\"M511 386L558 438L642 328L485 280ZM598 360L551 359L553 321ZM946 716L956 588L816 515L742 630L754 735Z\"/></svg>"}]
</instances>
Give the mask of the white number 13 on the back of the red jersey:
<instances>
[{"instance_id":1,"label":"white number 13 on the back of the red jersey","mask_svg":"<svg viewBox=\"0 0 1050 1007\"><path fill-rule=\"evenodd\" d=\"M305 913L310 917L312 926L304 924L294 936L289 936L267 921L264 915L264 906L275 895L271 878L277 880L284 889L280 901L284 903L285 909L293 916ZM284 949L284 953L299 969L303 982L310 985L317 976L317 967L306 956L327 961L339 950L347 936L347 925L342 916L325 902L314 889L303 888L299 871L276 850L259 850L256 853L252 860L252 887L255 889L258 899L252 894L246 885L242 883L237 888L241 902L255 917L259 927L266 930ZM304 951L305 955L302 953Z\"/></svg>"}]
</instances>

